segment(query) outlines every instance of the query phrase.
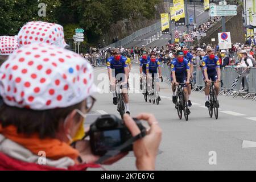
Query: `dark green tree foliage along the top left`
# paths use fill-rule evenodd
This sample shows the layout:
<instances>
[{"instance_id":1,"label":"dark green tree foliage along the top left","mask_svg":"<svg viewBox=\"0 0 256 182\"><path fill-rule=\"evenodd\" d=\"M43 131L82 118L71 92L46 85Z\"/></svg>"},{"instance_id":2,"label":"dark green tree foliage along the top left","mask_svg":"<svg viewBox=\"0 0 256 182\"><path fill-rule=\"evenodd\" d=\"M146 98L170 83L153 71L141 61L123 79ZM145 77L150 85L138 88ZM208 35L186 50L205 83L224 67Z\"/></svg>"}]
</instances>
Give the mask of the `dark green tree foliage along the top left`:
<instances>
[{"instance_id":1,"label":"dark green tree foliage along the top left","mask_svg":"<svg viewBox=\"0 0 256 182\"><path fill-rule=\"evenodd\" d=\"M88 42L97 43L109 27L123 19L151 19L163 0L0 0L0 35L16 35L27 22L42 20L64 26L65 38L84 28ZM46 17L38 15L45 3ZM75 27L75 28L74 28Z\"/></svg>"}]
</instances>

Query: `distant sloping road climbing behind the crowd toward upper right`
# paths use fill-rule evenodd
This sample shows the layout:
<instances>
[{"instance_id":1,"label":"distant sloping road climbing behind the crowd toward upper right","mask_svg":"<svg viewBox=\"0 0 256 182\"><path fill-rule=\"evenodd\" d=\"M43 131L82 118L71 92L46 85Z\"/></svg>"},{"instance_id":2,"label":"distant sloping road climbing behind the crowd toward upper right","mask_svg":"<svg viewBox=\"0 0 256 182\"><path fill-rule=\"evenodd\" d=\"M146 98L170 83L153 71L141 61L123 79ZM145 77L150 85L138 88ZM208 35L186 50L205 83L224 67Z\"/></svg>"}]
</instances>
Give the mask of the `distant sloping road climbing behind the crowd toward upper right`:
<instances>
[{"instance_id":1,"label":"distant sloping road climbing behind the crowd toward upper right","mask_svg":"<svg viewBox=\"0 0 256 182\"><path fill-rule=\"evenodd\" d=\"M188 7L188 14L189 15L193 15L194 16L194 9L193 7ZM203 10L203 7L196 7L196 23L197 26L200 26L200 24L204 23L207 19L209 19L209 13L205 13ZM189 30L192 30L192 26L189 26ZM178 31L187 31L187 27L185 26L177 26L177 30ZM160 35L160 29L153 31L153 32L149 32L148 34L142 35L139 38L135 39L133 42L125 45L125 47L142 47L142 45L146 46L146 47L162 47L166 44L168 44L168 40L170 39L170 35L169 34L162 34L162 36L159 37L158 40L155 40L154 42L151 42L147 44L146 39L148 38L152 38L152 36L156 36ZM174 33L175 33L175 24L172 23L172 38L174 39Z\"/></svg>"}]
</instances>

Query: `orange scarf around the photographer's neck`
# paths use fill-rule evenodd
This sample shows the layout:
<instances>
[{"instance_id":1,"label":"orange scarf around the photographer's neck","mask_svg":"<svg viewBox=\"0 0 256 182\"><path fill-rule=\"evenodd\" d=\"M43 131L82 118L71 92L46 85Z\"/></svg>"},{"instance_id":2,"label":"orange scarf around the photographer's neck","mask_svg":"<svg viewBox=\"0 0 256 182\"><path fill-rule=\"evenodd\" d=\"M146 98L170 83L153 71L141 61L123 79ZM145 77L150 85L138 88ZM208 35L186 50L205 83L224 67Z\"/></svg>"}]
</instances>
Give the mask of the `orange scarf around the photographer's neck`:
<instances>
[{"instance_id":1,"label":"orange scarf around the photographer's neck","mask_svg":"<svg viewBox=\"0 0 256 182\"><path fill-rule=\"evenodd\" d=\"M27 148L35 155L38 155L39 151L44 151L46 152L46 158L57 160L69 157L75 160L75 162L79 156L79 151L67 143L52 138L40 139L38 134L33 134L29 137L24 134L18 134L15 126L3 128L0 125L0 133L13 142Z\"/></svg>"}]
</instances>

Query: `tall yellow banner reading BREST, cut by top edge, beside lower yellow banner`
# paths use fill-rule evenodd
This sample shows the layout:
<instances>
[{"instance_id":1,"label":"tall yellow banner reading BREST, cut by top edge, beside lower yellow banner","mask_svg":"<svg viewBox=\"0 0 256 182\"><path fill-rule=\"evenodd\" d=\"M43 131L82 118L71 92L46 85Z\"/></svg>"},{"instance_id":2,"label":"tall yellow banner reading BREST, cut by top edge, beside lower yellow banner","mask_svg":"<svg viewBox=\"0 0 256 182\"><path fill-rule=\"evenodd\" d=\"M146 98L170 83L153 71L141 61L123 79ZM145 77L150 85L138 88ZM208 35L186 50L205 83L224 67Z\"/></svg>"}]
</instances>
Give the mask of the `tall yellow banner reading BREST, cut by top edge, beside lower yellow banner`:
<instances>
[{"instance_id":1,"label":"tall yellow banner reading BREST, cut by top edge, beside lower yellow banner","mask_svg":"<svg viewBox=\"0 0 256 182\"><path fill-rule=\"evenodd\" d=\"M185 25L184 0L174 0L175 25Z\"/></svg>"}]
</instances>

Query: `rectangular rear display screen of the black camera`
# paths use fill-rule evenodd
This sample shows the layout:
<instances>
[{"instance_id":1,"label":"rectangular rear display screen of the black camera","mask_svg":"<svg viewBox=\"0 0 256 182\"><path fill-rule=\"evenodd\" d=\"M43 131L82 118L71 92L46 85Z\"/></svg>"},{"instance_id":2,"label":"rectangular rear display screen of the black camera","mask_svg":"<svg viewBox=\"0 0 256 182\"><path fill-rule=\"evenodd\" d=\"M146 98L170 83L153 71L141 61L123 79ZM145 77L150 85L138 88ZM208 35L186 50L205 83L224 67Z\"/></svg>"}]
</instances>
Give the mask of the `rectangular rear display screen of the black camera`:
<instances>
[{"instance_id":1,"label":"rectangular rear display screen of the black camera","mask_svg":"<svg viewBox=\"0 0 256 182\"><path fill-rule=\"evenodd\" d=\"M122 144L120 130L107 130L94 133L96 151L107 151Z\"/></svg>"}]
</instances>

